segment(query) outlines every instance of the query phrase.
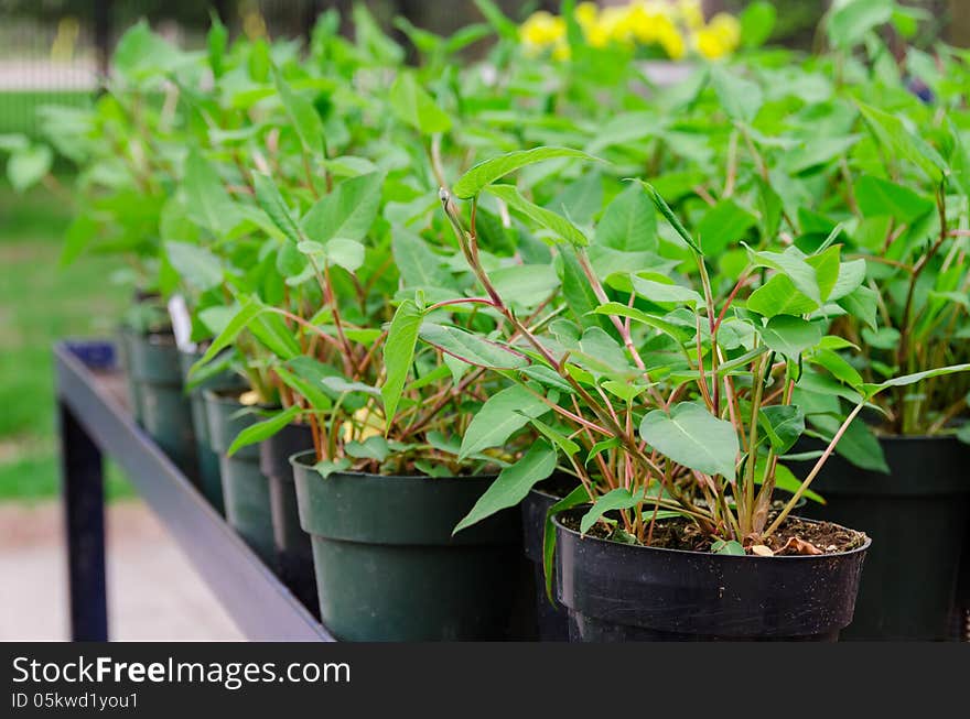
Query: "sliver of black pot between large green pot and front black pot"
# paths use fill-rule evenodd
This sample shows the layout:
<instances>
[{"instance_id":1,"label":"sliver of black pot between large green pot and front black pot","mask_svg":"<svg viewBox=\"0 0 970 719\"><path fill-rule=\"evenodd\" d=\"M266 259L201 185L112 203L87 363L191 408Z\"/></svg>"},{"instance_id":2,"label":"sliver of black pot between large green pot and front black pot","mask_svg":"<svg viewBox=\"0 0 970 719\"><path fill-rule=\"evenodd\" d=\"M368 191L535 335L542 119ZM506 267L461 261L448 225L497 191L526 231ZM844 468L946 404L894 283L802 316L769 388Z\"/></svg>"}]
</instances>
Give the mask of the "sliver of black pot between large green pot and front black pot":
<instances>
[{"instance_id":1,"label":"sliver of black pot between large green pot and front black pot","mask_svg":"<svg viewBox=\"0 0 970 719\"><path fill-rule=\"evenodd\" d=\"M521 503L522 547L532 569L532 593L536 598L536 624L539 641L569 641L569 617L558 602L549 601L546 593L546 571L542 566L542 544L546 534L546 515L556 502L576 487L575 478L557 475L539 482L529 490ZM553 585L554 585L553 577ZM556 596L556 587L552 588Z\"/></svg>"}]
</instances>

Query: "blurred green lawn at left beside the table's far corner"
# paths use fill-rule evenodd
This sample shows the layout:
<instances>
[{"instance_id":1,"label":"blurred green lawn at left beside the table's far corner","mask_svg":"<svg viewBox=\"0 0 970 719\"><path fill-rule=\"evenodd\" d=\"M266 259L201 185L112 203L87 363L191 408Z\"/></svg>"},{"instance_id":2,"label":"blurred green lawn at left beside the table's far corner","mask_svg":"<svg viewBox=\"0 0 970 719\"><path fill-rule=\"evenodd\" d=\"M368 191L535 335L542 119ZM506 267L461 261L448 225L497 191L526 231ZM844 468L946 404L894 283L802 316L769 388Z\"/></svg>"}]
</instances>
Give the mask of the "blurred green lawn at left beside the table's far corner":
<instances>
[{"instance_id":1,"label":"blurred green lawn at left beside the table's far corner","mask_svg":"<svg viewBox=\"0 0 970 719\"><path fill-rule=\"evenodd\" d=\"M110 260L60 266L71 213L47 190L17 195L0 179L0 500L56 494L51 346L110 335L127 297L109 281ZM116 467L107 477L110 497L131 493Z\"/></svg>"}]
</instances>

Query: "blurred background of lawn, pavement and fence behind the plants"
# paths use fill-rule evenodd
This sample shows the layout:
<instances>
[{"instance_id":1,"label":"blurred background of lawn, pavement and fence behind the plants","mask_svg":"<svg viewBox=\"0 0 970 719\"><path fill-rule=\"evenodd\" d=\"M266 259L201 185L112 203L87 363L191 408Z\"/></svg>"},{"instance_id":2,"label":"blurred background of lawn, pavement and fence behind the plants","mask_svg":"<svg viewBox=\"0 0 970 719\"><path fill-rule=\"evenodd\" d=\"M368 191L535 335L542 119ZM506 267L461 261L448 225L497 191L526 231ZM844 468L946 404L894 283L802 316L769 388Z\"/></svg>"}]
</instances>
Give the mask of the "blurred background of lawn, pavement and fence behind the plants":
<instances>
[{"instance_id":1,"label":"blurred background of lawn, pavement and fence behind the plants","mask_svg":"<svg viewBox=\"0 0 970 719\"><path fill-rule=\"evenodd\" d=\"M40 137L37 109L84 106L110 72L117 39L140 18L186 47L203 46L209 13L231 34L300 37L321 10L346 17L352 0L0 0L0 140ZM481 20L471 0L370 0L387 26L396 15L439 33ZM516 20L557 0L498 4ZM608 0L602 4L612 4ZM614 3L615 4L615 3ZM705 0L708 17L744 0ZM828 0L775 0L773 41L809 50ZM970 0L923 0L930 11L916 44L967 45ZM348 28L344 29L349 32ZM403 40L403 39L402 39ZM39 145L53 173L18 192L0 176L0 641L65 639L66 582L57 504L58 469L51 346L65 336L108 336L128 290L121 268L87 255L60 269L71 221L73 167ZM42 173L46 174L46 173ZM117 639L229 640L238 633L161 526L108 467L109 590ZM15 581L8 578L15 577ZM159 591L164 584L165 591Z\"/></svg>"}]
</instances>

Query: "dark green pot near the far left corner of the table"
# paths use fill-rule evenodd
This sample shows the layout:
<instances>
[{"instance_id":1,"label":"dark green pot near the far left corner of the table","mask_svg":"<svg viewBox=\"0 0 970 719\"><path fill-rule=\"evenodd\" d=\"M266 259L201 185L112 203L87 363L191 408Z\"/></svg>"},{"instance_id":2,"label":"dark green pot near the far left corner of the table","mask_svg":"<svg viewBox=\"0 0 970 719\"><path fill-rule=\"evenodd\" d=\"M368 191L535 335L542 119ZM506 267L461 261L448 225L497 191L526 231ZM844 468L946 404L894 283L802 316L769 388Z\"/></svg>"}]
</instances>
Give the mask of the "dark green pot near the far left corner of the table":
<instances>
[{"instance_id":1,"label":"dark green pot near the far left corner of the table","mask_svg":"<svg viewBox=\"0 0 970 719\"><path fill-rule=\"evenodd\" d=\"M132 334L128 361L141 425L179 469L195 479L198 471L192 406L182 386L174 335Z\"/></svg>"}]
</instances>

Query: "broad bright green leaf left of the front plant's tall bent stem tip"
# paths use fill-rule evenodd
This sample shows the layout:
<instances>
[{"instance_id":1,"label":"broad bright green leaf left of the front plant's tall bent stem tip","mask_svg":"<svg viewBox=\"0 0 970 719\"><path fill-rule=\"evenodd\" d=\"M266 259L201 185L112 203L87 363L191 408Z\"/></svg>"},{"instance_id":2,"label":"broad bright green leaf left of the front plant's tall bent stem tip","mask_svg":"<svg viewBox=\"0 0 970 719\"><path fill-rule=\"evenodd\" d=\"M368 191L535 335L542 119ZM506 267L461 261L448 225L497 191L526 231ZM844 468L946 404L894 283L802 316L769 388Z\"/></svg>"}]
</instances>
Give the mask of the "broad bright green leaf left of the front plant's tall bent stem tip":
<instances>
[{"instance_id":1,"label":"broad bright green leaf left of the front plant's tall bent stem tip","mask_svg":"<svg viewBox=\"0 0 970 719\"><path fill-rule=\"evenodd\" d=\"M379 172L342 182L303 217L301 226L306 237L324 244L337 237L362 241L377 217L382 185Z\"/></svg>"}]
</instances>

